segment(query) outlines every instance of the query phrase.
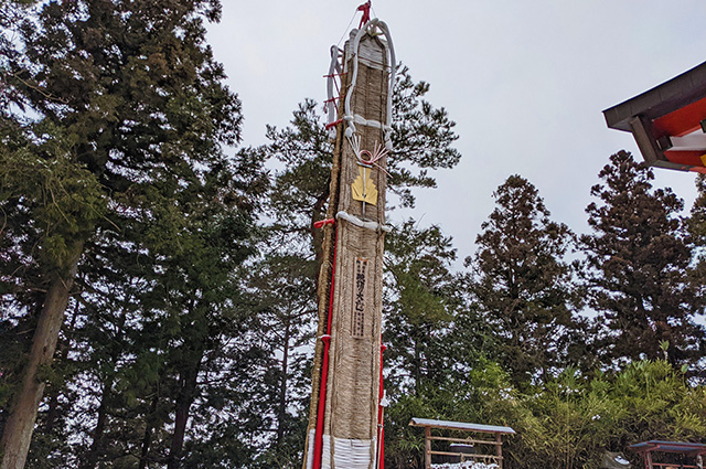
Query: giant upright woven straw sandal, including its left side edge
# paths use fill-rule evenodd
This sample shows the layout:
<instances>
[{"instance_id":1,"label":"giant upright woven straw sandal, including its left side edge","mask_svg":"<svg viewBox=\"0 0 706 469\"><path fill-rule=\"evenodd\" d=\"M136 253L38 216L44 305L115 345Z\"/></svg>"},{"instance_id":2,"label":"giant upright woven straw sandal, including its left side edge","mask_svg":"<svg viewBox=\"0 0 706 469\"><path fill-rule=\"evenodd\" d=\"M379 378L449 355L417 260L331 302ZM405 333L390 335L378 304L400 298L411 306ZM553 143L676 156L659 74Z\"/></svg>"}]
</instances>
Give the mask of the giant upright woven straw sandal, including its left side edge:
<instances>
[{"instance_id":1,"label":"giant upright woven straw sandal, including its left side edge","mask_svg":"<svg viewBox=\"0 0 706 469\"><path fill-rule=\"evenodd\" d=\"M352 50L351 42L355 42L356 51ZM325 398L321 402L324 405L322 428L317 428L317 422L323 397L320 390L324 347L321 340L315 343L304 469L313 461L313 440L318 439L319 431L323 438L322 468L372 469L377 448L387 182L387 151L383 146L389 138L386 131L389 129L391 68L385 43L373 34L357 35L356 41L346 43L344 53L338 113L341 124L335 132L327 217L340 213L345 216L338 216L335 227L323 227L317 335L330 333L331 341ZM352 70L356 71L355 76ZM357 83L356 87L352 87L353 81ZM344 102L357 121L378 124L361 125L354 139L343 138L342 128L349 124L344 119ZM376 203L352 199L351 184L359 177L360 164L370 168L367 174L377 188ZM333 288L332 276L336 279ZM332 315L328 324L330 306Z\"/></svg>"}]
</instances>

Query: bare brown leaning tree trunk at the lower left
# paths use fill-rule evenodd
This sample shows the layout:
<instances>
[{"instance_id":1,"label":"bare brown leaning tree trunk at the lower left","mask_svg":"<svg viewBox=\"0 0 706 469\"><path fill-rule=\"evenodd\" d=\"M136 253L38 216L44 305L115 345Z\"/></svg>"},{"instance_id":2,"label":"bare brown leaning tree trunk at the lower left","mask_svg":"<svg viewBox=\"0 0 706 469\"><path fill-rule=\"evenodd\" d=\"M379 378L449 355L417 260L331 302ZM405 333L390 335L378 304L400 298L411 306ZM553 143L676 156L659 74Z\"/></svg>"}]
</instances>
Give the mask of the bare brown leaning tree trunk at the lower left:
<instances>
[{"instance_id":1,"label":"bare brown leaning tree trunk at the lower left","mask_svg":"<svg viewBox=\"0 0 706 469\"><path fill-rule=\"evenodd\" d=\"M82 239L74 242L67 257L65 274L63 276L56 275L46 292L32 339L22 384L14 397L12 411L0 441L0 447L3 450L1 469L24 468L36 420L36 411L45 387L39 372L42 366L51 364L54 356L58 331L62 328L64 311L68 305L68 296L74 285L83 246Z\"/></svg>"}]
</instances>

